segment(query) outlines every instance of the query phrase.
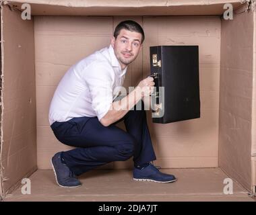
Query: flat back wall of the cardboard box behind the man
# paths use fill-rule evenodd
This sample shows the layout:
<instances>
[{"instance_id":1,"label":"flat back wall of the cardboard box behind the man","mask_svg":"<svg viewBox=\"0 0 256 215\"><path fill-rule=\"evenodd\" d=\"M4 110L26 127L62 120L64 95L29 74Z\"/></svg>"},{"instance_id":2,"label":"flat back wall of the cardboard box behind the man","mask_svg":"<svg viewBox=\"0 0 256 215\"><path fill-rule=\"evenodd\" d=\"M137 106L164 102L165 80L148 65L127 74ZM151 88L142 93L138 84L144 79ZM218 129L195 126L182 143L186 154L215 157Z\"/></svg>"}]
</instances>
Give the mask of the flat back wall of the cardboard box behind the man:
<instances>
[{"instance_id":1,"label":"flat back wall of the cardboard box behind the man","mask_svg":"<svg viewBox=\"0 0 256 215\"><path fill-rule=\"evenodd\" d=\"M48 121L49 104L61 77L79 59L109 45L115 26L134 19L145 30L138 58L129 65L125 86L135 86L150 73L149 46L198 45L201 118L172 124L148 124L163 168L218 167L218 105L220 75L220 18L197 17L34 17L36 64L36 130L39 169L51 169L49 160L70 147L54 136ZM119 124L124 128L123 123ZM115 162L106 168L128 168Z\"/></svg>"}]
</instances>

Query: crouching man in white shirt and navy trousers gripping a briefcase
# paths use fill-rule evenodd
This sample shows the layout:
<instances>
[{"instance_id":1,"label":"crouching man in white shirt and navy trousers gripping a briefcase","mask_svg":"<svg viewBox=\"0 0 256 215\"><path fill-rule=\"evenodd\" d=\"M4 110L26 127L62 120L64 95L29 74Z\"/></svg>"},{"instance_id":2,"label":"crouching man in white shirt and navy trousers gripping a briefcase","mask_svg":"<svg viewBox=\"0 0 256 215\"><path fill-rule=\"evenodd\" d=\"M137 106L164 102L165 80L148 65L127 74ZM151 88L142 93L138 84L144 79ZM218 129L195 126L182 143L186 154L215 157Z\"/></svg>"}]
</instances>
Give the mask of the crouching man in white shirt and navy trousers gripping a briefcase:
<instances>
[{"instance_id":1,"label":"crouching man in white shirt and navy trousers gripping a briefcase","mask_svg":"<svg viewBox=\"0 0 256 215\"><path fill-rule=\"evenodd\" d=\"M133 179L176 180L150 163L156 156L141 99L153 92L154 79L143 79L121 101L113 101L115 89L123 85L127 65L139 54L143 40L139 24L121 22L108 48L80 60L61 79L51 101L49 121L57 139L76 148L51 159L60 186L78 187L78 175L132 156ZM131 110L139 101L142 110ZM127 132L115 126L121 120Z\"/></svg>"}]
</instances>

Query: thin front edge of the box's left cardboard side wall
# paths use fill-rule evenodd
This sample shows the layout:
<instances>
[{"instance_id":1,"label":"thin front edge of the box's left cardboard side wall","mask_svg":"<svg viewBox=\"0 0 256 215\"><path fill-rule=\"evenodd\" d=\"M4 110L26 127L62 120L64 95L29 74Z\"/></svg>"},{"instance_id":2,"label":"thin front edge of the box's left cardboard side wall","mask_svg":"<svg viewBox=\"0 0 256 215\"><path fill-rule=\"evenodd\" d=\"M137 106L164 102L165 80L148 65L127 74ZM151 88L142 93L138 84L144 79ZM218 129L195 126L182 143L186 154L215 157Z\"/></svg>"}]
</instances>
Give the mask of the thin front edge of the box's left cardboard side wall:
<instances>
[{"instance_id":1,"label":"thin front edge of the box's left cardboard side wall","mask_svg":"<svg viewBox=\"0 0 256 215\"><path fill-rule=\"evenodd\" d=\"M1 86L2 86L2 75L3 75L3 7L2 4L0 3L0 10L1 10ZM4 198L4 192L3 192L3 165L2 165L2 146L3 146L3 93L2 93L2 88L1 88L1 132L0 132L0 201L3 200Z\"/></svg>"}]
</instances>

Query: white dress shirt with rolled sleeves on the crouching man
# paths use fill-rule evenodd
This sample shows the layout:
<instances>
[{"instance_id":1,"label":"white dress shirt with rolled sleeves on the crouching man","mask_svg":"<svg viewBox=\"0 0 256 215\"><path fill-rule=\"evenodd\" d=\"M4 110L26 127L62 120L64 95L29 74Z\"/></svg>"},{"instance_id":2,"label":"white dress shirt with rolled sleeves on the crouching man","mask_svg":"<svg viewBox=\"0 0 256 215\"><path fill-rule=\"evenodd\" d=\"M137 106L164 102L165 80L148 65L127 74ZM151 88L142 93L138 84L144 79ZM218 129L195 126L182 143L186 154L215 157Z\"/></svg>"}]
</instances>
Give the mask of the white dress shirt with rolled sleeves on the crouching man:
<instances>
[{"instance_id":1,"label":"white dress shirt with rolled sleeves on the crouching man","mask_svg":"<svg viewBox=\"0 0 256 215\"><path fill-rule=\"evenodd\" d=\"M113 47L96 51L74 64L61 79L51 101L49 122L66 122L89 116L100 120L123 85L122 71Z\"/></svg>"}]
</instances>

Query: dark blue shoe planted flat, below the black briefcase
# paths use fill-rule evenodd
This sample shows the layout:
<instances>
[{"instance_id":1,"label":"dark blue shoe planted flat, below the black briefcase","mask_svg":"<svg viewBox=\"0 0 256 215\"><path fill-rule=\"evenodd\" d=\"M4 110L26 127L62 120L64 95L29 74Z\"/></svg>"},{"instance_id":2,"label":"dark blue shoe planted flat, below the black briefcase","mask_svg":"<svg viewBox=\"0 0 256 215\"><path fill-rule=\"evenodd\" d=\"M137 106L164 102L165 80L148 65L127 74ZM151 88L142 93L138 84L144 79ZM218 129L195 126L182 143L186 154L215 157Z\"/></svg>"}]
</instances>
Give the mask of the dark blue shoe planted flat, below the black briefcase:
<instances>
[{"instance_id":1,"label":"dark blue shoe planted flat, below the black briefcase","mask_svg":"<svg viewBox=\"0 0 256 215\"><path fill-rule=\"evenodd\" d=\"M170 183L176 181L174 175L161 173L152 163L143 169L133 169L133 179L135 181L154 181L158 183Z\"/></svg>"}]
</instances>

